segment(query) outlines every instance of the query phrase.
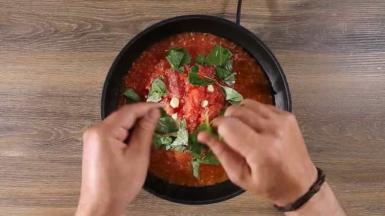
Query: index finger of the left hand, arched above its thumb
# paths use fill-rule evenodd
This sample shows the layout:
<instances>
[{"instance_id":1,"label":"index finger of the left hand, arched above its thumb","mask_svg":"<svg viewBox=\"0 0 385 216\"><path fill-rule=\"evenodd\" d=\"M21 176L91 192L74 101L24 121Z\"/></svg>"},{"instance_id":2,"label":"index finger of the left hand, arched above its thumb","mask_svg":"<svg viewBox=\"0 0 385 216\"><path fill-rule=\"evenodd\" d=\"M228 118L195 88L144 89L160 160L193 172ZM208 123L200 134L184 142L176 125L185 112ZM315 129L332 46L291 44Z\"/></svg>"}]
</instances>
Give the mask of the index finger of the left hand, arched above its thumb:
<instances>
[{"instance_id":1,"label":"index finger of the left hand, arched above its thumb","mask_svg":"<svg viewBox=\"0 0 385 216\"><path fill-rule=\"evenodd\" d=\"M161 107L161 103L133 103L125 105L118 111L109 115L103 122L110 125L123 127L128 131L132 128L137 119L143 117L149 110L155 107Z\"/></svg>"}]
</instances>

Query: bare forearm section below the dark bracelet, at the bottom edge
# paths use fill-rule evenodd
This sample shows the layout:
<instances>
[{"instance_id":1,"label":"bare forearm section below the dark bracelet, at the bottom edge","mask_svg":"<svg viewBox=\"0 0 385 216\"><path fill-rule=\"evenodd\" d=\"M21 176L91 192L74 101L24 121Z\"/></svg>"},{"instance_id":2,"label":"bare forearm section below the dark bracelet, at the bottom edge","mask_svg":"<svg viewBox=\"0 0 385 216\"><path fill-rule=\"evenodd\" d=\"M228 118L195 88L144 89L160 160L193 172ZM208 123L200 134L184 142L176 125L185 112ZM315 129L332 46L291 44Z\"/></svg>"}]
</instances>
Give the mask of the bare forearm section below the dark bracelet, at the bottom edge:
<instances>
[{"instance_id":1,"label":"bare forearm section below the dark bracelet, at the bottom edge","mask_svg":"<svg viewBox=\"0 0 385 216\"><path fill-rule=\"evenodd\" d=\"M334 196L328 183L324 183L321 189L296 211L286 212L286 216L321 216L334 215L346 216L337 198Z\"/></svg>"}]
</instances>

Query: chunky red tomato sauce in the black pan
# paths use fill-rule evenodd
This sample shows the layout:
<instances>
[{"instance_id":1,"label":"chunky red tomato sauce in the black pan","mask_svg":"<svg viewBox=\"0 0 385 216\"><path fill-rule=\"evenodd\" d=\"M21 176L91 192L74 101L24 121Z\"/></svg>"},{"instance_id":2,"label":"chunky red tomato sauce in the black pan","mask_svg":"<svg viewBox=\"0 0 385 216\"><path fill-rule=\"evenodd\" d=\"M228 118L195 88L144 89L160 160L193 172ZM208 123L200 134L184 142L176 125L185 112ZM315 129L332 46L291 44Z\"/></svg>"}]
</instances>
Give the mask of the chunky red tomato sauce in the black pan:
<instances>
[{"instance_id":1,"label":"chunky red tomato sauce in the black pan","mask_svg":"<svg viewBox=\"0 0 385 216\"><path fill-rule=\"evenodd\" d=\"M196 57L204 53L206 56L216 44L221 44L233 53L233 71L237 73L235 85L232 87L243 98L251 98L262 103L272 104L271 86L265 79L261 66L254 57L232 41L208 33L182 33L157 42L144 51L133 63L127 75L123 78L121 90L132 88L144 100L147 99L151 83L157 77L163 76L169 94L162 98L167 114L177 113L178 119L186 119L189 132L194 131L204 122L205 113L209 119L220 115L226 101L220 88L213 84L214 92L207 92L207 86L195 87L187 81L188 71L195 64ZM184 67L184 73L173 71L166 60L169 48L186 49L191 56L191 62ZM198 74L216 79L216 66L200 66ZM169 102L176 97L180 103L173 109ZM125 98L119 97L118 107L125 104ZM207 100L208 105L201 107L201 101ZM189 153L151 148L149 172L174 184L187 186L205 186L223 182L228 179L222 166L200 164L200 178L192 175Z\"/></svg>"}]
</instances>

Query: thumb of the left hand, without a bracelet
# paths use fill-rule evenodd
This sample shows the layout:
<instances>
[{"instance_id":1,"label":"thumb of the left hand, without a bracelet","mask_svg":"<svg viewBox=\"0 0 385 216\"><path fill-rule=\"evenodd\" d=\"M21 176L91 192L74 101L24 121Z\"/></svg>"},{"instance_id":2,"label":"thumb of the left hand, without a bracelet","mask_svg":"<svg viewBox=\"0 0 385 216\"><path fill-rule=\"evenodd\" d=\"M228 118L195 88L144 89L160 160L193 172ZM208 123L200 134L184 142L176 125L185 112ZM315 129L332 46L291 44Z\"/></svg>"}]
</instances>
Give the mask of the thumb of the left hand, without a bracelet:
<instances>
[{"instance_id":1,"label":"thumb of the left hand, without a bracelet","mask_svg":"<svg viewBox=\"0 0 385 216\"><path fill-rule=\"evenodd\" d=\"M149 157L152 134L157 127L159 118L159 109L153 108L148 112L148 115L141 118L134 126L130 141L128 142L128 149L135 157Z\"/></svg>"}]
</instances>

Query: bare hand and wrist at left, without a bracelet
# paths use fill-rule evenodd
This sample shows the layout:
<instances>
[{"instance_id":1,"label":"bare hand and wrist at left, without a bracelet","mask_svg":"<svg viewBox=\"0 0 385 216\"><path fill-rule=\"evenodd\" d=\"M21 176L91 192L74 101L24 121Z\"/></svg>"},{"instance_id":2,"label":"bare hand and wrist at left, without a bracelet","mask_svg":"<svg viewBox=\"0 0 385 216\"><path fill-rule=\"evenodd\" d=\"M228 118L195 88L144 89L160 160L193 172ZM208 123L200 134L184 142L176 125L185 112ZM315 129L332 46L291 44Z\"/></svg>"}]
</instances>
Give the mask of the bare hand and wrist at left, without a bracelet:
<instances>
[{"instance_id":1,"label":"bare hand and wrist at left, without a bracelet","mask_svg":"<svg viewBox=\"0 0 385 216\"><path fill-rule=\"evenodd\" d=\"M122 215L144 184L160 103L125 105L83 135L76 216ZM124 143L129 139L128 144Z\"/></svg>"}]
</instances>

